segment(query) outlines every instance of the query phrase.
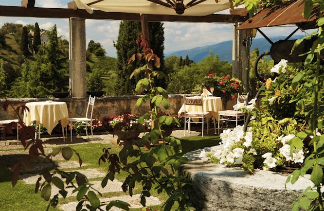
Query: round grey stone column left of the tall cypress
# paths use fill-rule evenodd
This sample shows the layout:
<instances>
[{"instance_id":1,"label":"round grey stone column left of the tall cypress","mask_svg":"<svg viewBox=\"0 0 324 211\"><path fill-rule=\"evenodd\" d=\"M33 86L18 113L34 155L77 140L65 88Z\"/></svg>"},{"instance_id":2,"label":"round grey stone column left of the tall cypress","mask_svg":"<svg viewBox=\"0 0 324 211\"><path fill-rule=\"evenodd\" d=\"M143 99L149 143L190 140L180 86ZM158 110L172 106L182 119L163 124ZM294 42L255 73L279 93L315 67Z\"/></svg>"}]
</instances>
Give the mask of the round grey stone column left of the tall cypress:
<instances>
[{"instance_id":1,"label":"round grey stone column left of the tall cypress","mask_svg":"<svg viewBox=\"0 0 324 211\"><path fill-rule=\"evenodd\" d=\"M70 18L70 89L73 98L87 97L86 65L86 21L84 18Z\"/></svg>"}]
</instances>

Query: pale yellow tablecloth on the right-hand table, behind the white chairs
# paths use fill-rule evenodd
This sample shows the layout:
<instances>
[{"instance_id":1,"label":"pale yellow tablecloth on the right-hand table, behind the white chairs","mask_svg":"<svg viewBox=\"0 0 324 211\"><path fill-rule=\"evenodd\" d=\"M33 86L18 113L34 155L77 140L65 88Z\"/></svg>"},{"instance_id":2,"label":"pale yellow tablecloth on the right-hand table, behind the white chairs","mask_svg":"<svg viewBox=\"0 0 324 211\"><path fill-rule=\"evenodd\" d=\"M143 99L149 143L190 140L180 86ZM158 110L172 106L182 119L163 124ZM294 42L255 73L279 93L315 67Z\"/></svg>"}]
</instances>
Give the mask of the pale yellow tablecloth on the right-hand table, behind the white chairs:
<instances>
[{"instance_id":1,"label":"pale yellow tablecloth on the right-hand table, behind the white chairs","mask_svg":"<svg viewBox=\"0 0 324 211\"><path fill-rule=\"evenodd\" d=\"M209 111L216 119L218 119L218 111L223 110L222 100L220 97L202 97L202 104L204 106L204 111ZM197 105L186 105L188 111L202 111L201 106ZM178 111L178 115L184 112L184 104Z\"/></svg>"}]
</instances>

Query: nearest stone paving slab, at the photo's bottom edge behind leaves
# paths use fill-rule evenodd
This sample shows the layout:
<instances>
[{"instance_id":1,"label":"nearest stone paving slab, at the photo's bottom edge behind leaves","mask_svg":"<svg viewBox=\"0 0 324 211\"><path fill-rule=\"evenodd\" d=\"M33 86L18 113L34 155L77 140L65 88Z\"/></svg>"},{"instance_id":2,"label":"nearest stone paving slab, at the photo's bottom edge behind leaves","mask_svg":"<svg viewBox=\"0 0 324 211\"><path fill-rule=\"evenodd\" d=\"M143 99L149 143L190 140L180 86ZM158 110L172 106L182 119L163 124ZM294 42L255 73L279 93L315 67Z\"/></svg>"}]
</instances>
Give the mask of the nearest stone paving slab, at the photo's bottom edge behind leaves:
<instances>
[{"instance_id":1,"label":"nearest stone paving slab, at the photo's bottom edge behind leaves","mask_svg":"<svg viewBox=\"0 0 324 211\"><path fill-rule=\"evenodd\" d=\"M109 201L113 201L113 200L125 201L128 204L130 204L131 208L142 208L143 207L141 205L140 194L133 195L132 197L130 197L129 195L125 195L125 196L116 196L116 197L111 197L111 198L101 198L100 199L101 202L107 202L107 204L109 203ZM78 202L76 202L76 201L70 202L70 203L62 205L60 207L60 209L62 209L64 211L72 211L72 210L75 210L75 207L77 204L78 204ZM146 197L146 206L153 206L153 205L159 205L159 204L162 204L162 202L157 197L155 197L155 196ZM110 209L110 211L122 211L122 209L112 207Z\"/></svg>"}]
</instances>

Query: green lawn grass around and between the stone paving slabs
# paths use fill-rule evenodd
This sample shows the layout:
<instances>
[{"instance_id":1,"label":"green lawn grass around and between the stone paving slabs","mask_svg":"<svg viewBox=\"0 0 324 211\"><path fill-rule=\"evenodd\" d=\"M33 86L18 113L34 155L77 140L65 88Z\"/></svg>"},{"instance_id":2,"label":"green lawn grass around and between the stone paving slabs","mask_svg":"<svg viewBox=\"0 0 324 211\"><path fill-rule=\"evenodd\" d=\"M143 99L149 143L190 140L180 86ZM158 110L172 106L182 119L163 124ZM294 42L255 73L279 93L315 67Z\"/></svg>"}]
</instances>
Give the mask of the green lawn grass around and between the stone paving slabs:
<instances>
[{"instance_id":1,"label":"green lawn grass around and between the stone paving slabs","mask_svg":"<svg viewBox=\"0 0 324 211\"><path fill-rule=\"evenodd\" d=\"M196 136L196 137L183 137L180 139L182 145L182 153L190 152L193 150L201 149L206 146L214 146L218 144L219 136ZM75 149L81 156L83 163L85 164L81 168L78 169L92 169L95 168L102 173L107 173L108 164L101 162L98 164L98 159L103 154L103 148L111 148L109 150L110 153L119 153L121 147L116 147L112 144L101 144L101 143L84 143L78 145L71 145L73 149ZM0 150L4 151L4 150ZM35 185L27 185L22 180L18 180L17 185L12 188L11 185L11 172L8 170L8 167L5 163L2 163L0 156L0 211L16 211L16 210L25 210L25 211L41 211L45 210L48 202L44 201L40 197L40 193L34 193ZM72 160L78 161L77 156L73 155ZM2 164L1 164L2 163ZM70 170L70 169L69 169ZM73 170L74 171L74 170ZM124 182L126 177L125 173L121 173L120 175L116 175L116 179L121 182ZM90 179L90 181L101 180L102 178ZM137 183L135 186L135 190L133 194L141 193L142 186L140 183ZM166 193L158 194L154 188L151 191L153 196L158 197L162 202L168 198ZM124 192L113 192L113 193L103 193L103 197L113 197L113 196L121 196L126 195L128 193ZM65 204L71 201L75 201L74 197L69 197L66 199L59 199L59 205ZM151 206L152 210L162 210L162 205ZM51 211L58 211L57 208L50 208ZM132 211L141 211L142 209L132 209Z\"/></svg>"}]
</instances>

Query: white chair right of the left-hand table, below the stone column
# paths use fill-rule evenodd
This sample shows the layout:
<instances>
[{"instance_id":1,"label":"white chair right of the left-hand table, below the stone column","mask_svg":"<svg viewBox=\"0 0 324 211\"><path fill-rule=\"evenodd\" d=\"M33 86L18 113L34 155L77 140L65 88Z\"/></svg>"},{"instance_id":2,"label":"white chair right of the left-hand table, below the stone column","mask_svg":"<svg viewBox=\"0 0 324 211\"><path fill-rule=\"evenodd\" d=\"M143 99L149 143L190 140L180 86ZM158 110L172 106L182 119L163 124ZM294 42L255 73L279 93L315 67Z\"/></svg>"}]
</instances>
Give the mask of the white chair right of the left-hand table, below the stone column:
<instances>
[{"instance_id":1,"label":"white chair right of the left-hand table, below the stone column","mask_svg":"<svg viewBox=\"0 0 324 211\"><path fill-rule=\"evenodd\" d=\"M84 125L80 125L82 127L86 127L86 134L87 137L89 139L89 135L88 135L88 123L90 123L90 129L91 129L91 136L93 139L93 132L92 132L92 112L93 112L93 107L94 107L94 102L96 100L96 97L91 97L91 95L89 96L89 100L88 100L88 105L87 105L87 111L86 111L86 117L72 117L69 118L69 122L73 124L73 122L84 122ZM91 105L91 108L89 108ZM72 142L72 128L70 128L71 130L71 142Z\"/></svg>"}]
</instances>

